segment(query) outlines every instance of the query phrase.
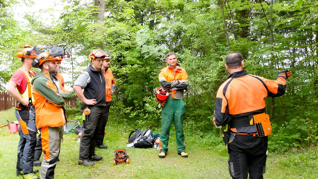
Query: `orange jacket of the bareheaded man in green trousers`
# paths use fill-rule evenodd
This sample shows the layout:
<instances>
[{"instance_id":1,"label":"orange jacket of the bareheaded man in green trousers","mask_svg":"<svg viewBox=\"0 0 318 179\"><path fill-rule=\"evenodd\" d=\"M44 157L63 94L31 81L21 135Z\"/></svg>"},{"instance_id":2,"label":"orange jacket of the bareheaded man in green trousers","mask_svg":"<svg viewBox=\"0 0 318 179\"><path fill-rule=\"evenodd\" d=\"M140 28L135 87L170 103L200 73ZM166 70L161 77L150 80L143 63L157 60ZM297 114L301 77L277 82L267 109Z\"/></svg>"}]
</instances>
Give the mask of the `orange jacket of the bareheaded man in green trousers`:
<instances>
[{"instance_id":1,"label":"orange jacket of the bareheaded man in green trousers","mask_svg":"<svg viewBox=\"0 0 318 179\"><path fill-rule=\"evenodd\" d=\"M173 99L183 99L183 91L188 87L187 71L177 64L175 70L164 67L159 72L159 81L163 89L169 90Z\"/></svg>"}]
</instances>

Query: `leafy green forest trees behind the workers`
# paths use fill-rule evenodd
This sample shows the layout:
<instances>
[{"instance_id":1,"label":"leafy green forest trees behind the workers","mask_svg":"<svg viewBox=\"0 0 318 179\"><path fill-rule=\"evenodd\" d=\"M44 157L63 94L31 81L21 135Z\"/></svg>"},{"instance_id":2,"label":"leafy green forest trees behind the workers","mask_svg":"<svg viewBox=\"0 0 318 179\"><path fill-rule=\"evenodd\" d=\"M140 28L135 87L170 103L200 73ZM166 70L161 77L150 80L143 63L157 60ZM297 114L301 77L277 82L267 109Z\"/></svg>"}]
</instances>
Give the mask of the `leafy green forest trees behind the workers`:
<instances>
[{"instance_id":1,"label":"leafy green forest trees behind the workers","mask_svg":"<svg viewBox=\"0 0 318 179\"><path fill-rule=\"evenodd\" d=\"M218 87L227 79L226 54L241 51L248 73L275 80L289 69L286 93L266 99L273 134L269 150L310 148L318 142L317 0L61 0L58 18L13 18L27 0L0 0L0 90L21 67L15 54L25 43L43 50L64 47L71 58L62 73L71 89L87 67L88 53L111 52L116 79L110 116L117 124L160 128L161 110L154 90L158 72L173 51L189 75L184 127L211 145L220 144L212 116ZM40 13L50 13L52 8ZM38 11L34 9L34 11ZM70 109L80 119L79 109ZM224 144L223 144L224 145Z\"/></svg>"}]
</instances>

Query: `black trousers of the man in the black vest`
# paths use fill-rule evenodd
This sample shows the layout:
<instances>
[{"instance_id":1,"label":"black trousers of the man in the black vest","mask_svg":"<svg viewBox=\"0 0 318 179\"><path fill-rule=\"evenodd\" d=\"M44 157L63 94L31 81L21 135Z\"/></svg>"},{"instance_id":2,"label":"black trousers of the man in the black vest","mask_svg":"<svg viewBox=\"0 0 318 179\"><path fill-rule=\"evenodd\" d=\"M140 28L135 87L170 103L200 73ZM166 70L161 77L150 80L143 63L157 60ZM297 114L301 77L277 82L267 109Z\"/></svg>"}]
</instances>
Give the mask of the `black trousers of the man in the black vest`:
<instances>
[{"instance_id":1,"label":"black trousers of the man in the black vest","mask_svg":"<svg viewBox=\"0 0 318 179\"><path fill-rule=\"evenodd\" d=\"M82 105L81 111L83 112L86 108L87 106ZM80 160L89 160L90 157L95 155L96 134L100 134L103 130L102 124L106 112L105 106L88 106L88 109L90 110L90 114L86 115L84 133L81 136Z\"/></svg>"}]
</instances>

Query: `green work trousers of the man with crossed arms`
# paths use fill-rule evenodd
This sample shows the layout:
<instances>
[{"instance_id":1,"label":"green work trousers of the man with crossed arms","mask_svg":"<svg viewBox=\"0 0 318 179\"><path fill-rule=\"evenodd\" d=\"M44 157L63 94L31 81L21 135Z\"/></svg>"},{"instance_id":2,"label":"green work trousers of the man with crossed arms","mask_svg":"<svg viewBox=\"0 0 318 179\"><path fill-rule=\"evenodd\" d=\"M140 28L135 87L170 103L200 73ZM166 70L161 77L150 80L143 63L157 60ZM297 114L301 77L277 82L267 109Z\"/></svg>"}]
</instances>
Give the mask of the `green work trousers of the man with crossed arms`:
<instances>
[{"instance_id":1,"label":"green work trousers of the man with crossed arms","mask_svg":"<svg viewBox=\"0 0 318 179\"><path fill-rule=\"evenodd\" d=\"M177 142L178 153L184 152L183 117L186 111L186 103L182 99L173 99L168 97L166 104L162 107L161 112L161 134L160 141L162 148L160 152L168 152L168 141L172 121L175 126L175 138Z\"/></svg>"}]
</instances>

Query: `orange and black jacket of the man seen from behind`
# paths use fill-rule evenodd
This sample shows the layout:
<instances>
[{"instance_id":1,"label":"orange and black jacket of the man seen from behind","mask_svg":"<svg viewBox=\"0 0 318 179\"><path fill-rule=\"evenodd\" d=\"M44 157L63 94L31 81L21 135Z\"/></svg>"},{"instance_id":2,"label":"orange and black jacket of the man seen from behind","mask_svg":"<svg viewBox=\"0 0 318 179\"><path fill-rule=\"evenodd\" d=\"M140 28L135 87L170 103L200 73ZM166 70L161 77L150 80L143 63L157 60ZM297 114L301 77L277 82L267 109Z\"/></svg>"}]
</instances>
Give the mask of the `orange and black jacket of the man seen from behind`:
<instances>
[{"instance_id":1,"label":"orange and black jacket of the man seen from behind","mask_svg":"<svg viewBox=\"0 0 318 179\"><path fill-rule=\"evenodd\" d=\"M265 112L265 97L281 96L285 89L286 79L283 77L268 80L248 74L246 70L234 72L217 91L213 124L229 124L231 131L236 133L255 133L255 127L246 119Z\"/></svg>"}]
</instances>

